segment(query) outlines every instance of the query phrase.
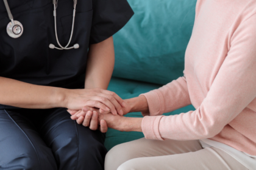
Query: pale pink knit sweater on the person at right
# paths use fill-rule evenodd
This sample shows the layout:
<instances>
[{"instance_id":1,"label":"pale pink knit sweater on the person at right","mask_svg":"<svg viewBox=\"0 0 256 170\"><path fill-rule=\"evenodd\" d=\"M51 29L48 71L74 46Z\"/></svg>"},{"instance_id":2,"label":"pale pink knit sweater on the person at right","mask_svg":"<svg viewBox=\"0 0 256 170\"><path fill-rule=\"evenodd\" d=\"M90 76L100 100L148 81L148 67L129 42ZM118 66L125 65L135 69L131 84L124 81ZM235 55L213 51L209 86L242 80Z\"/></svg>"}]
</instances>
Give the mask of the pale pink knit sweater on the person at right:
<instances>
[{"instance_id":1,"label":"pale pink knit sweater on the person at right","mask_svg":"<svg viewBox=\"0 0 256 170\"><path fill-rule=\"evenodd\" d=\"M256 1L198 0L184 77L143 95L146 138L210 138L256 155ZM160 116L188 104L196 110Z\"/></svg>"}]
</instances>

